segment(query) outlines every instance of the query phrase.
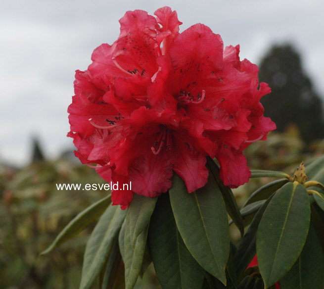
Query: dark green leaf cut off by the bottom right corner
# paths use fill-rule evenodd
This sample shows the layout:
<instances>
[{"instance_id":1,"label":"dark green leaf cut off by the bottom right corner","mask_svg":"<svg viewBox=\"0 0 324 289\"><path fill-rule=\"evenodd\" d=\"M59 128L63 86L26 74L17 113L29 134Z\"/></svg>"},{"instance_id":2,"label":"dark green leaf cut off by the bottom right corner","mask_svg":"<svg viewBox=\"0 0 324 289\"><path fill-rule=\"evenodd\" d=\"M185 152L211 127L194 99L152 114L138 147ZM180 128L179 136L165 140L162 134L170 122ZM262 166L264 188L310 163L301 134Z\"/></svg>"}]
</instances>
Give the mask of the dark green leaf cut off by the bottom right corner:
<instances>
[{"instance_id":1,"label":"dark green leaf cut off by the bottom right corner","mask_svg":"<svg viewBox=\"0 0 324 289\"><path fill-rule=\"evenodd\" d=\"M280 281L281 289L322 289L324 259L321 242L311 223L303 250Z\"/></svg>"}]
</instances>

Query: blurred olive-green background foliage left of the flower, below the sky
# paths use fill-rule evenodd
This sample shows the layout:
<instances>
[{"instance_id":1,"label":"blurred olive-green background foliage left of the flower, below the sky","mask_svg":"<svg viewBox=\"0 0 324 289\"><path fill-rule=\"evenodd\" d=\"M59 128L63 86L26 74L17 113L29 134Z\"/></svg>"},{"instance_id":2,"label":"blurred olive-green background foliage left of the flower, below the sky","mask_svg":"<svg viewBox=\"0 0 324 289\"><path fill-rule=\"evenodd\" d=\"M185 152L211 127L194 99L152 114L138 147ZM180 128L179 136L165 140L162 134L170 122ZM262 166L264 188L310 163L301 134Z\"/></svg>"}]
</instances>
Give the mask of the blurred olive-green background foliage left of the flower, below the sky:
<instances>
[{"instance_id":1,"label":"blurred olive-green background foliage left of the flower, below the sky","mask_svg":"<svg viewBox=\"0 0 324 289\"><path fill-rule=\"evenodd\" d=\"M50 258L39 254L62 226L104 196L93 191L58 191L55 184L93 182L103 181L87 166L64 160L36 162L15 173L3 169L0 288L78 288L87 234L65 243Z\"/></svg>"}]
</instances>

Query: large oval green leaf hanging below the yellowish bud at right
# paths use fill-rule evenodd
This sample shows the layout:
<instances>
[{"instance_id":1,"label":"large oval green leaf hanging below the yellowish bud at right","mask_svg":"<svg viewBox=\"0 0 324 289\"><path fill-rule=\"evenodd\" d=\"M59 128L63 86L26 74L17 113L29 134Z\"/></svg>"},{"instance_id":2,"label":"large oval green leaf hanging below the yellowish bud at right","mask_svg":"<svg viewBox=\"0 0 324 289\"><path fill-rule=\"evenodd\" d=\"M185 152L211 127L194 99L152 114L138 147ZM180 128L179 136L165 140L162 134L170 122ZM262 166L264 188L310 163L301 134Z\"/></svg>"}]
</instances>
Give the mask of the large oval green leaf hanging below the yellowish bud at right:
<instances>
[{"instance_id":1,"label":"large oval green leaf hanging below the yellowish bud at right","mask_svg":"<svg viewBox=\"0 0 324 289\"><path fill-rule=\"evenodd\" d=\"M266 288L278 282L296 262L305 244L311 217L306 189L284 185L270 201L257 232L257 256Z\"/></svg>"}]
</instances>

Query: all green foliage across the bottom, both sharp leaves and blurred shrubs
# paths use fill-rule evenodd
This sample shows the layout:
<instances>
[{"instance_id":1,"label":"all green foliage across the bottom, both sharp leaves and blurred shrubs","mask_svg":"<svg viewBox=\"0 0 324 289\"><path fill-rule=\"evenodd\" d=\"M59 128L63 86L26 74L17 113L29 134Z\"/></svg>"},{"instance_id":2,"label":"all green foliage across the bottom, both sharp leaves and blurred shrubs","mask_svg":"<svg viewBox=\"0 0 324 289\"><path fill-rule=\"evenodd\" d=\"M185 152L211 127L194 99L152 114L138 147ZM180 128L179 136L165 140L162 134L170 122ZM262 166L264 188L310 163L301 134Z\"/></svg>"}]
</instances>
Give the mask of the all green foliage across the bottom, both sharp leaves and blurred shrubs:
<instances>
[{"instance_id":1,"label":"all green foliage across the bottom, both sharp leaves and blurred shrubs","mask_svg":"<svg viewBox=\"0 0 324 289\"><path fill-rule=\"evenodd\" d=\"M0 288L259 288L280 280L283 289L321 289L324 195L313 181L324 183L322 146L296 148L289 138L272 134L269 144L251 145L257 178L243 187L222 185L208 159L204 188L187 194L175 175L170 193L136 195L126 211L106 192L56 189L103 182L87 166L57 160L3 170ZM280 150L281 163L274 161ZM301 159L308 180L297 185L292 168ZM256 253L259 267L246 269Z\"/></svg>"}]
</instances>

